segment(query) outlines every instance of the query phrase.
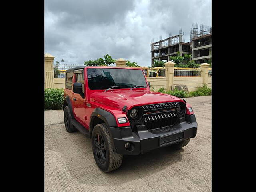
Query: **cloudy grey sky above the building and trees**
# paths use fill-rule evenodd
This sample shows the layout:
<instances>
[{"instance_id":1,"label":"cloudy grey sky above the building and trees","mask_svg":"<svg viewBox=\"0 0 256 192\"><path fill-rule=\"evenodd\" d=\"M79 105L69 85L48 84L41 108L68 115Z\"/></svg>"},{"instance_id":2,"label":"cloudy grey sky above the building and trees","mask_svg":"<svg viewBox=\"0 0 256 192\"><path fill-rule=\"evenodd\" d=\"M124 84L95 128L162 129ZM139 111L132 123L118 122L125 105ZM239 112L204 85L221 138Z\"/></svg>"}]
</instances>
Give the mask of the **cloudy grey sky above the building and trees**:
<instances>
[{"instance_id":1,"label":"cloudy grey sky above the building and trees","mask_svg":"<svg viewBox=\"0 0 256 192\"><path fill-rule=\"evenodd\" d=\"M211 25L211 0L45 0L45 52L65 64L124 58L150 66L151 39Z\"/></svg>"}]
</instances>

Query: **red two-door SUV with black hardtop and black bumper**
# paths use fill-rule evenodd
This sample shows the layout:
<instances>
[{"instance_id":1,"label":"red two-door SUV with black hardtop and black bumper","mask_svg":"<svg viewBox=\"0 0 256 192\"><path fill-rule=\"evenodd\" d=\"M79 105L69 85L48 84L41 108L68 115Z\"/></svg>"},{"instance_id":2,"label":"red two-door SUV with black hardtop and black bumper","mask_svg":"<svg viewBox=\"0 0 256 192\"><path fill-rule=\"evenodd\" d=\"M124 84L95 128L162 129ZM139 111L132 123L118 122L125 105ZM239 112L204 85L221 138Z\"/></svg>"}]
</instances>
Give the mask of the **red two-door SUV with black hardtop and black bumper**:
<instances>
[{"instance_id":1,"label":"red two-door SUV with black hardtop and black bumper","mask_svg":"<svg viewBox=\"0 0 256 192\"><path fill-rule=\"evenodd\" d=\"M175 96L150 91L141 69L66 70L64 98L66 130L92 138L94 159L104 172L119 168L123 155L162 146L181 148L196 136L191 106Z\"/></svg>"}]
</instances>

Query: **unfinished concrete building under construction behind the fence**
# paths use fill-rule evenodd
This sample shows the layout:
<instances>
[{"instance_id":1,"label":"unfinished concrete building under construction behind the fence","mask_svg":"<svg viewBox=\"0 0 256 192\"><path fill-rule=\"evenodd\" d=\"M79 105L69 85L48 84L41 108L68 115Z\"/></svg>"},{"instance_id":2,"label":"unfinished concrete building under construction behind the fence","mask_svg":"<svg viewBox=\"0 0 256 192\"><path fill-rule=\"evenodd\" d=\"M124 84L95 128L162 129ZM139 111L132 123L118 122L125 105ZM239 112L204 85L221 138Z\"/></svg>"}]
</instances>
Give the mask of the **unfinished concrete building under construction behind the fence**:
<instances>
[{"instance_id":1,"label":"unfinished concrete building under construction behind the fence","mask_svg":"<svg viewBox=\"0 0 256 192\"><path fill-rule=\"evenodd\" d=\"M182 34L182 28L180 28L179 35L172 36L169 33L169 38L151 43L151 66L154 64L154 60L170 60L170 56L176 56L179 52L180 56L184 54L191 54L190 60L194 60L196 63L202 63L205 60L209 60L212 57L212 28L210 26L200 26L200 32L198 30L198 24L193 23L193 28L190 31L190 42L184 42Z\"/></svg>"}]
</instances>

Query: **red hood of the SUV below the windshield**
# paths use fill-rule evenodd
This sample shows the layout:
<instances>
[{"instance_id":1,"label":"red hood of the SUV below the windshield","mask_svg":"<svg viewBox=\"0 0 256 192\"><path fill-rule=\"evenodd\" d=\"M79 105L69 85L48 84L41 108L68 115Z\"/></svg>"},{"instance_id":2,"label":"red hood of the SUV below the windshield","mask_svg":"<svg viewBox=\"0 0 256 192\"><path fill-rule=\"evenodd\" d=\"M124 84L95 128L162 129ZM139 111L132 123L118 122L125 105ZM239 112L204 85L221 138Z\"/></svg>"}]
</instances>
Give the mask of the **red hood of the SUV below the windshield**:
<instances>
[{"instance_id":1,"label":"red hood of the SUV below the windshield","mask_svg":"<svg viewBox=\"0 0 256 192\"><path fill-rule=\"evenodd\" d=\"M178 97L150 90L109 90L107 92L94 92L90 95L92 102L119 109L126 105L128 110L133 106L180 100Z\"/></svg>"}]
</instances>

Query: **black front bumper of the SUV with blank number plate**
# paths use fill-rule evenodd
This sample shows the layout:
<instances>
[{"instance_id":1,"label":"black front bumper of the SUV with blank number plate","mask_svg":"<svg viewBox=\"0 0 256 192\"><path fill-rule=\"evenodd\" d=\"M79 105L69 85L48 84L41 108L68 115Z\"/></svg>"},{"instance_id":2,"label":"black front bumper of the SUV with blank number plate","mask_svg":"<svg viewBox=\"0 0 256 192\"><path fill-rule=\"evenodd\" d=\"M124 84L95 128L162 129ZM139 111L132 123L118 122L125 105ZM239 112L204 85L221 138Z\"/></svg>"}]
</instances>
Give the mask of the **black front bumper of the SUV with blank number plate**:
<instances>
[{"instance_id":1,"label":"black front bumper of the SUV with blank number plate","mask_svg":"<svg viewBox=\"0 0 256 192\"><path fill-rule=\"evenodd\" d=\"M110 127L115 152L125 155L138 155L150 150L180 142L187 138L194 138L197 133L195 115L186 115L183 122L175 126L146 130L146 126L137 126L132 132L130 126L116 128ZM130 148L125 144L129 142Z\"/></svg>"}]
</instances>

